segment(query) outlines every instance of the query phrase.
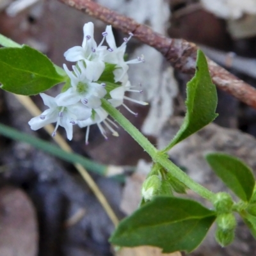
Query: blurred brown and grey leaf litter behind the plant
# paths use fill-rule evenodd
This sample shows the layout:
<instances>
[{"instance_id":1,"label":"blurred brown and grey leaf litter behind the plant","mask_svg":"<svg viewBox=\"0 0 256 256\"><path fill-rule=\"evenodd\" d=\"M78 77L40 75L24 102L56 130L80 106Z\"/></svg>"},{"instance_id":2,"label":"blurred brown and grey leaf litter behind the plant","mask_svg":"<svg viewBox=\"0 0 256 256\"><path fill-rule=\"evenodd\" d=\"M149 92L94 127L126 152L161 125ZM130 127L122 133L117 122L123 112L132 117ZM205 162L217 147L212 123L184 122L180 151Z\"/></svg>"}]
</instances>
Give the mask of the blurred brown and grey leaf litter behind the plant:
<instances>
[{"instance_id":1,"label":"blurred brown and grey leaf litter behind the plant","mask_svg":"<svg viewBox=\"0 0 256 256\"><path fill-rule=\"evenodd\" d=\"M255 0L97 0L116 12L147 24L171 38L195 42L209 58L232 74L256 86L256 1ZM0 33L19 44L44 52L62 67L63 52L81 45L83 25L95 24L95 40L100 42L107 24L54 0L0 0ZM114 29L117 45L123 35ZM127 46L129 59L143 54L146 62L132 65L129 77L143 88L140 100L149 106L127 102L138 112L120 111L154 145L164 147L179 129L186 112L186 83L191 76L173 70L155 49L132 38ZM71 67L72 63L67 63ZM49 90L55 96L56 86ZM44 110L40 97L32 97ZM256 111L218 90L218 118L183 141L170 152L170 159L197 182L212 191L226 188L204 161L209 151L241 157L256 169ZM126 102L125 102L126 103ZM43 129L31 131L31 115L11 93L0 91L0 122L52 142ZM58 131L65 138L63 129ZM138 166L124 173L125 180L92 174L118 218L131 214L140 202L140 187L150 169L150 158L121 128L118 138L106 141L91 127L90 144L84 144L84 129L75 129L72 149L102 164ZM121 255L108 243L114 230L106 212L77 174L67 164L32 146L4 138L0 134L0 256L84 256ZM52 142L54 143L54 142ZM196 195L189 192L189 196ZM214 241L214 228L200 248L190 255L256 255L256 243L239 222L236 241L221 248ZM118 254L119 253L119 254ZM122 252L122 255L161 255L159 252Z\"/></svg>"}]
</instances>

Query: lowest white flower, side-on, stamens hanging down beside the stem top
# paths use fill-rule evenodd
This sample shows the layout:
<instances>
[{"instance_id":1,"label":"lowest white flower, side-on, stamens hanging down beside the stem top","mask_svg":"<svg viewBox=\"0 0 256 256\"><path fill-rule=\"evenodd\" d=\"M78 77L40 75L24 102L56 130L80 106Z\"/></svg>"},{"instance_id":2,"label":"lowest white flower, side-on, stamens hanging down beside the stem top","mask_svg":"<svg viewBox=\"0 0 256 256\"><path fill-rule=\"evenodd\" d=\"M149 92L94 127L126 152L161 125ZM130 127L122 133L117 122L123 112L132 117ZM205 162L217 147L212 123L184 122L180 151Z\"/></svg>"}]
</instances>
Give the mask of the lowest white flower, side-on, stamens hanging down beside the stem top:
<instances>
[{"instance_id":1,"label":"lowest white flower, side-on, stamens hanging down beside the stem top","mask_svg":"<svg viewBox=\"0 0 256 256\"><path fill-rule=\"evenodd\" d=\"M113 127L111 127L110 124L112 124L113 126L115 126L116 128L118 128L118 126L108 118L108 113L103 109L103 108L97 108L97 109L93 109L93 113L92 116L90 118L88 118L87 120L84 121L78 121L77 124L79 125L79 127L87 127L86 129L86 135L85 135L85 143L86 145L88 145L88 138L89 138L89 132L90 132L90 125L93 124L97 124L99 127L99 130L101 132L101 134L104 136L104 138L106 140L108 140L108 137L106 136L106 130L104 129L104 127L102 126L103 123L104 125L106 125L106 127L109 129L109 131L112 132L113 136L118 136L118 132L116 132ZM110 123L110 124L109 124Z\"/></svg>"}]
</instances>

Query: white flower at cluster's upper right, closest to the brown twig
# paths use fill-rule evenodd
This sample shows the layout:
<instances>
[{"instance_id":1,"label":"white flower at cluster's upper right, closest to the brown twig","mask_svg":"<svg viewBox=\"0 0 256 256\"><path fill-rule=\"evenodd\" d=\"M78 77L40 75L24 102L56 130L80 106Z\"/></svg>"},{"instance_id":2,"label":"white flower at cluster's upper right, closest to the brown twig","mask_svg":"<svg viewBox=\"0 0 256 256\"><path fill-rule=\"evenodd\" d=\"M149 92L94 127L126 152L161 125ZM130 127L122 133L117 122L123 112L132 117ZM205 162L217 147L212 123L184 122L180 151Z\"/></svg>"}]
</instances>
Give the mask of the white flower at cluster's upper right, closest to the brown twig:
<instances>
[{"instance_id":1,"label":"white flower at cluster's upper right, closest to the brown twig","mask_svg":"<svg viewBox=\"0 0 256 256\"><path fill-rule=\"evenodd\" d=\"M116 64L116 69L114 70L115 82L123 81L127 70L129 69L128 64L141 63L144 62L143 56L138 57L135 60L125 61L124 54L126 50L126 44L133 36L132 33L129 33L129 38L124 38L124 43L120 47L116 47L115 37L113 35L112 27L106 27L106 41L108 42L109 49L107 54L104 55L104 61L112 64Z\"/></svg>"}]
</instances>

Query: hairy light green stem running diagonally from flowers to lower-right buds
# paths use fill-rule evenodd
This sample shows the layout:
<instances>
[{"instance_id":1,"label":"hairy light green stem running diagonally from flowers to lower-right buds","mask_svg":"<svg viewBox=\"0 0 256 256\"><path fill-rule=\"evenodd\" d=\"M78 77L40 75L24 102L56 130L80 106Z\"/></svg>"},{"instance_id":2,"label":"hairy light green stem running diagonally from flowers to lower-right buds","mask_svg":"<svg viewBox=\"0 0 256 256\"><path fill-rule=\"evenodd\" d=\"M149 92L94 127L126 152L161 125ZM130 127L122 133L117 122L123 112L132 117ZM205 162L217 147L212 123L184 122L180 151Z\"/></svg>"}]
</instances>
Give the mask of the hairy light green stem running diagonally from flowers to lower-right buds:
<instances>
[{"instance_id":1,"label":"hairy light green stem running diagonally from flowers to lower-right buds","mask_svg":"<svg viewBox=\"0 0 256 256\"><path fill-rule=\"evenodd\" d=\"M162 152L159 152L157 148L155 148L150 141L148 141L141 132L134 127L134 125L129 122L116 108L111 106L111 104L106 100L102 99L102 108L104 108L110 116L112 116L118 124L120 124L125 131L127 131L134 140L136 140L141 147L152 157L154 163L159 163L161 166L166 168L172 175L180 180L180 182L184 183L189 189L195 191L198 195L203 198L212 201L214 193L204 188L200 184L196 183L193 179L191 179L186 173L184 173L178 166L172 163Z\"/></svg>"}]
</instances>

